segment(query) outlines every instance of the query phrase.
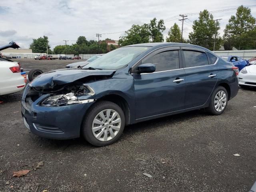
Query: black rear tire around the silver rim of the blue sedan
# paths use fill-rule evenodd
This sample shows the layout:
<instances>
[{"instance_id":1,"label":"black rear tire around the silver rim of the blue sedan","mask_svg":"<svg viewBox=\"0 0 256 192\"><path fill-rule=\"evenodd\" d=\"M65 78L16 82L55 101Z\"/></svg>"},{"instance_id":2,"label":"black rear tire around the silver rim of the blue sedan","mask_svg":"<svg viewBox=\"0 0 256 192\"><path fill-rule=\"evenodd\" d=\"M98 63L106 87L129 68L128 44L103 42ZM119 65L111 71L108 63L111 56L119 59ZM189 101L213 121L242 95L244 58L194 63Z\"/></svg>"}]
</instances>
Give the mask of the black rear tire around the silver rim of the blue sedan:
<instances>
[{"instance_id":1,"label":"black rear tire around the silver rim of the blue sedan","mask_svg":"<svg viewBox=\"0 0 256 192\"><path fill-rule=\"evenodd\" d=\"M226 94L226 105L225 105L224 109L223 109L222 111L220 111L220 112L218 112L218 111L215 109L215 107L214 107L215 96L216 96L216 94L217 94L219 91L224 91L225 94ZM225 111L225 109L226 109L226 107L227 107L227 105L228 105L228 92L227 92L227 90L226 90L224 87L218 86L218 87L213 91L212 96L211 96L210 99L211 99L211 100L210 100L210 104L209 104L209 107L206 108L206 111L209 112L209 113L212 114L212 115L220 115L220 114L222 114L222 113Z\"/></svg>"}]
</instances>

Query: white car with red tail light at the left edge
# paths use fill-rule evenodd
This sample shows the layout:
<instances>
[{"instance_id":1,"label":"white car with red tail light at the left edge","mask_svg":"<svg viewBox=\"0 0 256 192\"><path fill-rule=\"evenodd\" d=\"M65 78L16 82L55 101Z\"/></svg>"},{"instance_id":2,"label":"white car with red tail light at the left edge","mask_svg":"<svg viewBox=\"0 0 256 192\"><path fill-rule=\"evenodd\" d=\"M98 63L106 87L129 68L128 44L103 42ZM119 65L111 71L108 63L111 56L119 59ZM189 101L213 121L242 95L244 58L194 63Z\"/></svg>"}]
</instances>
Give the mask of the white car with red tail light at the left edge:
<instances>
[{"instance_id":1,"label":"white car with red tail light at the left edge","mask_svg":"<svg viewBox=\"0 0 256 192\"><path fill-rule=\"evenodd\" d=\"M0 95L18 92L25 85L18 62L0 61Z\"/></svg>"}]
</instances>

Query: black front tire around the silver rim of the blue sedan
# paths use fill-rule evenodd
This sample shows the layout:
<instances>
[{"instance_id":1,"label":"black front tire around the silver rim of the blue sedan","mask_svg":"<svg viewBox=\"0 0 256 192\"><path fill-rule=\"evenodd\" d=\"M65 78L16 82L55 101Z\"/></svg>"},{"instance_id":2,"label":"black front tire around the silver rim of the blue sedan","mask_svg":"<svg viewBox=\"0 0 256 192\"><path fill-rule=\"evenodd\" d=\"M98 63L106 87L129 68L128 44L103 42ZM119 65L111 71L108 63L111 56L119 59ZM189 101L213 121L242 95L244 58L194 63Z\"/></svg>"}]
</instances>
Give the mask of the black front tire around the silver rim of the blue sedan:
<instances>
[{"instance_id":1,"label":"black front tire around the silver rim of the blue sedan","mask_svg":"<svg viewBox=\"0 0 256 192\"><path fill-rule=\"evenodd\" d=\"M109 141L100 141L97 138L95 138L95 136L92 132L92 123L93 123L94 118L97 116L97 114L105 109L112 109L112 110L115 110L116 112L118 112L118 114L120 115L120 119L121 119L121 126L120 126L119 132L116 134L116 136L114 138L112 138ZM100 101L100 102L95 103L86 113L86 116L84 117L82 128L81 128L81 134L85 140L87 140L90 144L92 144L94 146L106 146L106 145L110 145L110 144L116 142L116 140L118 140L118 138L120 138L120 136L122 135L122 132L124 130L124 125L125 125L125 117L124 117L123 110L117 104L115 104L113 102Z\"/></svg>"}]
</instances>

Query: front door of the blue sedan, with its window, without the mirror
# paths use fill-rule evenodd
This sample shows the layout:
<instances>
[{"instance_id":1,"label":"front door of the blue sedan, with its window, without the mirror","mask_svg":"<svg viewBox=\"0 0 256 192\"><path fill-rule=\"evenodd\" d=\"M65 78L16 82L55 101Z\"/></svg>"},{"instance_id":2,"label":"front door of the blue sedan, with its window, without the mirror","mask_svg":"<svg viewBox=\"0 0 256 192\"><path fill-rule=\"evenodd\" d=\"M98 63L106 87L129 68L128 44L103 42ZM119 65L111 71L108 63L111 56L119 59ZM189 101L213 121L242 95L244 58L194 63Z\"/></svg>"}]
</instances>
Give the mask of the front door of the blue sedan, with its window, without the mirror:
<instances>
[{"instance_id":1,"label":"front door of the blue sedan, with its window, without the mirror","mask_svg":"<svg viewBox=\"0 0 256 192\"><path fill-rule=\"evenodd\" d=\"M185 72L179 47L162 48L142 59L133 68L135 118L156 116L184 108ZM136 74L139 64L156 65L153 73Z\"/></svg>"}]
</instances>

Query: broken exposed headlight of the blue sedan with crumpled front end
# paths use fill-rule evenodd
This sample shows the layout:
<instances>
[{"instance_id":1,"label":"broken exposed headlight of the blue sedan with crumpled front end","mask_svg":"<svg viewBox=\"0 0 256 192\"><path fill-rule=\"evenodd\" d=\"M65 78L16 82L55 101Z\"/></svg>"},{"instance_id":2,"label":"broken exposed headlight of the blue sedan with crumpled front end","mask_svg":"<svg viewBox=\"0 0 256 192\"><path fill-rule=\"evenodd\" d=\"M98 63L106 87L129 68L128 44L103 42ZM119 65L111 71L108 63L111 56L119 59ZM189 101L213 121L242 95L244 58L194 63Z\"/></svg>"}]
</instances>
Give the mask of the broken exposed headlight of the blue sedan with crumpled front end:
<instances>
[{"instance_id":1,"label":"broken exposed headlight of the blue sedan with crumpled front end","mask_svg":"<svg viewBox=\"0 0 256 192\"><path fill-rule=\"evenodd\" d=\"M44 107L60 107L90 102L94 102L94 99L79 100L76 96L74 96L74 93L71 92L68 94L61 94L48 97L46 100L42 102L41 105Z\"/></svg>"}]
</instances>

